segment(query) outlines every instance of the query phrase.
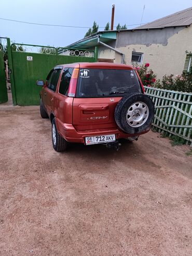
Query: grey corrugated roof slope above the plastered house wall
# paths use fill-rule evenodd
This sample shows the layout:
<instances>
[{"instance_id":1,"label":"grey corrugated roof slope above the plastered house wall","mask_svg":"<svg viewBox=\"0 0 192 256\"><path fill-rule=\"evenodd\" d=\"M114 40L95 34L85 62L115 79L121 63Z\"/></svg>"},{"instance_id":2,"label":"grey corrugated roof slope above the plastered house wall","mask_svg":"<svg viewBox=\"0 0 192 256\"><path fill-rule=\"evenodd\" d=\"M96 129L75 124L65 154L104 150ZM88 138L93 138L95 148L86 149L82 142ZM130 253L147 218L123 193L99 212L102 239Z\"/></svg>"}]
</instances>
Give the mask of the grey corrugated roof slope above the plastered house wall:
<instances>
[{"instance_id":1,"label":"grey corrugated roof slope above the plastered house wall","mask_svg":"<svg viewBox=\"0 0 192 256\"><path fill-rule=\"evenodd\" d=\"M164 27L189 26L192 23L192 7L177 13L168 15L161 19L154 20L135 29L151 29Z\"/></svg>"}]
</instances>

